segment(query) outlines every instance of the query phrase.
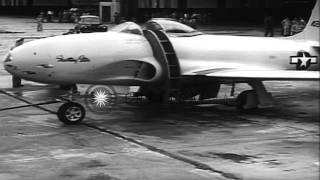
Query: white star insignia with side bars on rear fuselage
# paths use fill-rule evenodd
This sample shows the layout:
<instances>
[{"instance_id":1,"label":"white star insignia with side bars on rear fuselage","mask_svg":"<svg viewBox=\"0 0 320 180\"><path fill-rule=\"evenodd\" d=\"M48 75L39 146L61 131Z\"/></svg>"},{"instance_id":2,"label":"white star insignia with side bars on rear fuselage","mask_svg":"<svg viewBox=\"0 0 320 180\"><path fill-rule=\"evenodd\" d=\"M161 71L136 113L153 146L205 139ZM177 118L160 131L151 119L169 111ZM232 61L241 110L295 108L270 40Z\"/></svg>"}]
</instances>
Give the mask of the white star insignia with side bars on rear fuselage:
<instances>
[{"instance_id":1,"label":"white star insignia with side bars on rear fuselage","mask_svg":"<svg viewBox=\"0 0 320 180\"><path fill-rule=\"evenodd\" d=\"M297 56L290 57L290 64L295 64L297 70L308 70L312 64L318 64L318 57L311 56L308 52L300 51Z\"/></svg>"}]
</instances>

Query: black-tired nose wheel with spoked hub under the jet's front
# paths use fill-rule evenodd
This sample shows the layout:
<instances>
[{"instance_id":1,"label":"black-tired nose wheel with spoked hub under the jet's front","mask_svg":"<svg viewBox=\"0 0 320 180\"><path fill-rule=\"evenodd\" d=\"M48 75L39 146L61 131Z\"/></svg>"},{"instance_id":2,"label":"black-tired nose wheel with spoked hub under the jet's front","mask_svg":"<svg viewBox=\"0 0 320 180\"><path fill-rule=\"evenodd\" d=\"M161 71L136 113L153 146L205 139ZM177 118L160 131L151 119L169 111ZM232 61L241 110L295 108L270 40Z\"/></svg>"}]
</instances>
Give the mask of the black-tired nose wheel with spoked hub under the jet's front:
<instances>
[{"instance_id":1,"label":"black-tired nose wheel with spoked hub under the jet's front","mask_svg":"<svg viewBox=\"0 0 320 180\"><path fill-rule=\"evenodd\" d=\"M86 111L81 104L68 102L59 108L57 115L59 120L64 124L74 125L80 123L84 119Z\"/></svg>"}]
</instances>

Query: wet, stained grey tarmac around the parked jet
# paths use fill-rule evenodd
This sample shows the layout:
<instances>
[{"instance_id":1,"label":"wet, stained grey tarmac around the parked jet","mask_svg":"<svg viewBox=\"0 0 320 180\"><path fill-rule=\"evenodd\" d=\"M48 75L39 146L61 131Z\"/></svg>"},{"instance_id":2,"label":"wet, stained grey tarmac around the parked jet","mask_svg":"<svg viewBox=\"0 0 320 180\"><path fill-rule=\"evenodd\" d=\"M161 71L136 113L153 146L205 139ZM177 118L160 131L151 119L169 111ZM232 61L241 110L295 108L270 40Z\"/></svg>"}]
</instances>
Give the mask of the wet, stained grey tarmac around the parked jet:
<instances>
[{"instance_id":1,"label":"wet, stained grey tarmac around the parked jet","mask_svg":"<svg viewBox=\"0 0 320 180\"><path fill-rule=\"evenodd\" d=\"M14 42L9 36L0 57ZM104 114L88 110L82 124L66 126L54 102L66 91L27 81L11 88L10 81L1 67L1 180L319 179L319 82L267 82L276 106L250 113L219 104L135 103ZM236 94L247 88L237 86ZM229 93L223 86L219 97Z\"/></svg>"}]
</instances>

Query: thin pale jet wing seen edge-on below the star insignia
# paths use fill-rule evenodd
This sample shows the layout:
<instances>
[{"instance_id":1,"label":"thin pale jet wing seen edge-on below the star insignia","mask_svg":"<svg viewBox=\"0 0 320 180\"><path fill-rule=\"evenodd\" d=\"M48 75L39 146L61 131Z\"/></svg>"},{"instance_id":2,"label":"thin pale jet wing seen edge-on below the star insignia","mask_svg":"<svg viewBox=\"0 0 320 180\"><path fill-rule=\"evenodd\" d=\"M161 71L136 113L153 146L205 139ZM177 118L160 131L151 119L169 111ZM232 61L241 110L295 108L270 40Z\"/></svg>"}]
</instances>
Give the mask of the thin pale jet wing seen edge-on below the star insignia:
<instances>
[{"instance_id":1,"label":"thin pale jet wing seen edge-on below the star insignia","mask_svg":"<svg viewBox=\"0 0 320 180\"><path fill-rule=\"evenodd\" d=\"M320 80L319 71L212 69L187 75L203 75L232 80Z\"/></svg>"}]
</instances>

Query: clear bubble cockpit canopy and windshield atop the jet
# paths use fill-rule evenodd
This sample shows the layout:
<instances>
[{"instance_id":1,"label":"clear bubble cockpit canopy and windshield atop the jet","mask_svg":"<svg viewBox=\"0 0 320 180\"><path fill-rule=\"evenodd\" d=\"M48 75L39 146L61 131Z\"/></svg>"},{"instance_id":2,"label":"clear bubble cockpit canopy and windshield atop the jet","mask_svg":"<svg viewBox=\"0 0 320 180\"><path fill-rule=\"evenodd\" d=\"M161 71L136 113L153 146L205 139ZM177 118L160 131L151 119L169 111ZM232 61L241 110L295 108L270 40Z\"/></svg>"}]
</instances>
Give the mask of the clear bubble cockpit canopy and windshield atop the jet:
<instances>
[{"instance_id":1,"label":"clear bubble cockpit canopy and windshield atop the jet","mask_svg":"<svg viewBox=\"0 0 320 180\"><path fill-rule=\"evenodd\" d=\"M196 36L203 34L177 21L162 18L149 20L145 23L143 28L134 22L124 22L111 28L110 31L143 35L143 29L161 30L166 32L169 36Z\"/></svg>"}]
</instances>

